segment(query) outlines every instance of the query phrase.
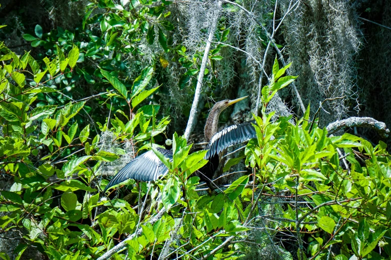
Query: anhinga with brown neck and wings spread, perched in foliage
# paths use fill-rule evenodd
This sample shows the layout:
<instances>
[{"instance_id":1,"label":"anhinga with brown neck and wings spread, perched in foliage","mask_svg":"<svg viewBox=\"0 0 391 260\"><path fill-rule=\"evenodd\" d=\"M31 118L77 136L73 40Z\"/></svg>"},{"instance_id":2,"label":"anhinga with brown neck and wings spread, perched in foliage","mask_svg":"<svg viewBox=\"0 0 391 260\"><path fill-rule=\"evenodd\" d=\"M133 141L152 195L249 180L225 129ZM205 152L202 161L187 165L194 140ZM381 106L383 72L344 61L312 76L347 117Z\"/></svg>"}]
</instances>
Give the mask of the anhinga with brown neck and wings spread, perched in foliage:
<instances>
[{"instance_id":1,"label":"anhinga with brown neck and wings spread, perched in foliage","mask_svg":"<svg viewBox=\"0 0 391 260\"><path fill-rule=\"evenodd\" d=\"M212 107L208 119L206 120L204 134L209 143L205 147L205 149L208 151L204 159L208 160L208 163L199 169L200 174L197 174L197 176L200 177L200 181L205 181L211 189L213 189L213 186L211 185L210 180L212 179L213 174L219 165L219 153L232 145L239 144L256 137L255 129L251 124L254 122L233 125L219 132L217 131L221 112L223 112L229 106L247 97L248 96L235 100L223 100L217 102ZM166 150L163 148L156 149L166 158L172 161L172 150ZM126 166L123 167L120 171L118 171L114 178L111 179L109 184L107 184L103 190L103 193L111 186L114 186L127 179L155 181L160 176L167 174L167 172L167 167L163 164L163 162L160 161L153 150L150 150L141 154L140 156L137 156L128 164L126 164Z\"/></svg>"}]
</instances>

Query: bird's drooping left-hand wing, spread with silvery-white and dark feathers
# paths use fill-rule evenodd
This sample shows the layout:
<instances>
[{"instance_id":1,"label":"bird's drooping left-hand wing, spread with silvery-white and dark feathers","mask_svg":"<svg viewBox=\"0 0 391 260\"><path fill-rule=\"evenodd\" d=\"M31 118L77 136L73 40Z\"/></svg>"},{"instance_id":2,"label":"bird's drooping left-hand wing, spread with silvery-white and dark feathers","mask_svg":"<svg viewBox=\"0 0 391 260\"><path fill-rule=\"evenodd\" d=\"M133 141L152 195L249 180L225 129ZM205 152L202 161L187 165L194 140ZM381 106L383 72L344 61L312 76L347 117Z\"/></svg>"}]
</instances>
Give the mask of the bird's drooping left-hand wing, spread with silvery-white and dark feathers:
<instances>
[{"instance_id":1,"label":"bird's drooping left-hand wing, spread with silvery-white and dark feathers","mask_svg":"<svg viewBox=\"0 0 391 260\"><path fill-rule=\"evenodd\" d=\"M166 150L162 148L156 148L161 152L164 157L172 161L172 150ZM135 179L141 181L154 181L159 178L160 175L167 174L168 169L156 156L156 154L150 150L146 153L137 156L131 160L125 167L123 167L114 178L111 179L106 188L104 188L103 193L118 183L121 183L128 179Z\"/></svg>"}]
</instances>

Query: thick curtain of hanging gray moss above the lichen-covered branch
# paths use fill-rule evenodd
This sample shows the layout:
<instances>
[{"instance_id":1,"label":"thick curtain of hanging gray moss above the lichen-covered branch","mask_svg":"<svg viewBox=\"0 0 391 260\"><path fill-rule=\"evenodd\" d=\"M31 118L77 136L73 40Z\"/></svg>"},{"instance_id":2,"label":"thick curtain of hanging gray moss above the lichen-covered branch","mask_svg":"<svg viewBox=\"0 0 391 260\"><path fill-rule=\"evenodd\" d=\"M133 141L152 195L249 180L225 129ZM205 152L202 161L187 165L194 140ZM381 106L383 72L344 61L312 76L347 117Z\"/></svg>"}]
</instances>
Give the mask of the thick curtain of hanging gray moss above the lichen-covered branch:
<instances>
[{"instance_id":1,"label":"thick curtain of hanging gray moss above the lichen-covered branch","mask_svg":"<svg viewBox=\"0 0 391 260\"><path fill-rule=\"evenodd\" d=\"M289 0L282 1L283 12ZM291 73L299 75L297 86L304 104L315 113L323 107L321 125L359 111L356 59L362 44L357 16L349 2L309 0L286 17L284 37ZM293 95L294 96L294 95ZM294 96L295 97L295 96ZM298 102L294 101L296 107Z\"/></svg>"}]
</instances>

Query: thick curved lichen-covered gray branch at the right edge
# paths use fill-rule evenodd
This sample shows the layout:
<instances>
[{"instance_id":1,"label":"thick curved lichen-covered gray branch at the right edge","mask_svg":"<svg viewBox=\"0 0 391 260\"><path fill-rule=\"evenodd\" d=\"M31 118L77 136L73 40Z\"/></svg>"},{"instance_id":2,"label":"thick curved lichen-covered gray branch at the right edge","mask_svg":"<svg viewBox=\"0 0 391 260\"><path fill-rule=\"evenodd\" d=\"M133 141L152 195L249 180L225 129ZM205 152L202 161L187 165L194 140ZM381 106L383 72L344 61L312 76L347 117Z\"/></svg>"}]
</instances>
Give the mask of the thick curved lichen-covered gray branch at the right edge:
<instances>
[{"instance_id":1,"label":"thick curved lichen-covered gray branch at the right edge","mask_svg":"<svg viewBox=\"0 0 391 260\"><path fill-rule=\"evenodd\" d=\"M390 134L390 130L387 128L385 123L368 117L351 117L344 120L338 120L329 124L326 129L328 131L328 135L330 135L338 130L353 127L372 128L383 138L389 137Z\"/></svg>"}]
</instances>

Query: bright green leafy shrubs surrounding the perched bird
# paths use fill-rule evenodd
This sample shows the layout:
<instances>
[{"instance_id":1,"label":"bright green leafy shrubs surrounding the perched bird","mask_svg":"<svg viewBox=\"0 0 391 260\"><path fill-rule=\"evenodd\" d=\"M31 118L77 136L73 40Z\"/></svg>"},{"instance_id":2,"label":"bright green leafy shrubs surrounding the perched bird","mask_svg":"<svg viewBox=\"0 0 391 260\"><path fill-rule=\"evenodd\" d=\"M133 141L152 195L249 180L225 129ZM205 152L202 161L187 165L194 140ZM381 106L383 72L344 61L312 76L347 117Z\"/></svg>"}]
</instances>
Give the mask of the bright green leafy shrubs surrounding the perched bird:
<instances>
[{"instance_id":1,"label":"bright green leafy shrubs surrounding the perched bird","mask_svg":"<svg viewBox=\"0 0 391 260\"><path fill-rule=\"evenodd\" d=\"M14 184L1 191L0 232L22 232L18 257L32 245L49 259L96 259L128 236L127 251L113 258L170 258L175 252L183 259L237 259L254 244L260 255L272 247L283 259L390 257L391 162L385 143L374 147L347 133L329 136L310 120L309 109L296 124L285 117L272 122L269 102L296 79L284 76L290 64L280 69L277 59L262 89L262 117L254 116L257 138L242 156L252 177L245 174L218 194L199 191L194 173L205 165L206 151L193 152L176 133L172 162L155 149L170 119L157 116L154 96L161 91L157 78L164 78L172 61L164 54L172 52L186 68L181 89L197 74L200 55L191 57L170 42L173 24L162 18L170 15L168 1L119 2L91 1L82 31L48 33L35 26L35 36L23 38L45 49L38 60L1 48L0 168ZM88 24L98 26L84 30ZM223 30L220 41L228 33ZM125 54L141 60L144 39L158 43L161 53L147 66L136 63L137 75L129 76ZM222 47L211 51L212 65L223 58ZM88 108L91 98L73 99L80 80L102 89L97 103L112 116ZM89 113L100 119L98 129L85 120ZM117 194L100 193L108 183L100 178L103 168L118 161L122 166L147 149L168 167L163 179L130 180L128 189L116 187ZM348 167L341 166L344 160ZM266 231L255 236L259 227Z\"/></svg>"}]
</instances>

